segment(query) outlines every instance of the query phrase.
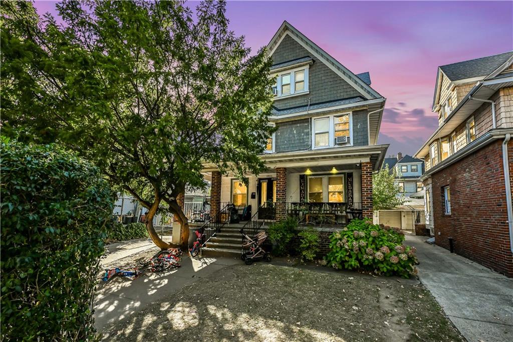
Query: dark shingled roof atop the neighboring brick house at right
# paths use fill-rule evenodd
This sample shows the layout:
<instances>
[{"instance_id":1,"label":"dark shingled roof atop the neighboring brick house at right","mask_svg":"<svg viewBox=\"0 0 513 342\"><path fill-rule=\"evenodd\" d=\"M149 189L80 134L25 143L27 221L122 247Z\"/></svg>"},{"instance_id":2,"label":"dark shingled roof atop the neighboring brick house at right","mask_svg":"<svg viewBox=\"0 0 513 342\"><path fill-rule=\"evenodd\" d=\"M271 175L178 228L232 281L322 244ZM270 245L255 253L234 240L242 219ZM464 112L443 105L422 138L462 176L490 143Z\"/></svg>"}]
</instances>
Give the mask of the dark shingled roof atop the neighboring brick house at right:
<instances>
[{"instance_id":1,"label":"dark shingled roof atop the neighboring brick house at right","mask_svg":"<svg viewBox=\"0 0 513 342\"><path fill-rule=\"evenodd\" d=\"M509 51L475 60L443 65L440 69L451 81L486 76L504 64L512 55L513 51Z\"/></svg>"}]
</instances>

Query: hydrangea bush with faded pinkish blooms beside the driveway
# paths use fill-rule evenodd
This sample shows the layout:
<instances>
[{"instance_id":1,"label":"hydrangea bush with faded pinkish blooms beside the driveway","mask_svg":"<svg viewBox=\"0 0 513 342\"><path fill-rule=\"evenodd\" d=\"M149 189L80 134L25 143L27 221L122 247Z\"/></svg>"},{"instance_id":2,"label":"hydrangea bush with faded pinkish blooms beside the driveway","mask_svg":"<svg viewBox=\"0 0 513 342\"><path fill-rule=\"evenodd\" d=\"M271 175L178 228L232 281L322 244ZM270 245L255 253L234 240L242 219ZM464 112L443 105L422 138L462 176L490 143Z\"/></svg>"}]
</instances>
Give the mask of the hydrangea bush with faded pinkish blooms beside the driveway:
<instances>
[{"instance_id":1,"label":"hydrangea bush with faded pinkish blooms beside the driveway","mask_svg":"<svg viewBox=\"0 0 513 342\"><path fill-rule=\"evenodd\" d=\"M397 228L352 220L330 236L326 262L336 269L365 270L381 275L409 278L417 274L415 247L405 246Z\"/></svg>"}]
</instances>

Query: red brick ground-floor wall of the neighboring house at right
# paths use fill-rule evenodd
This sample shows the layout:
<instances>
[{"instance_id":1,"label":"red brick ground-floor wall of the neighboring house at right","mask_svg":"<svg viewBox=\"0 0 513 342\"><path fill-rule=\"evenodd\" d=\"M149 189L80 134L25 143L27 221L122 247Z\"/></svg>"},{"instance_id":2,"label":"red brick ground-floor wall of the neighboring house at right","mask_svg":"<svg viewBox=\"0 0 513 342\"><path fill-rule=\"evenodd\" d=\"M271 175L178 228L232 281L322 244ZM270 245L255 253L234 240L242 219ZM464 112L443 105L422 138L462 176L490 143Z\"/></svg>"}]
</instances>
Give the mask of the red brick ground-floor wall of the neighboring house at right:
<instances>
[{"instance_id":1,"label":"red brick ground-floor wall of the neighboring house at right","mask_svg":"<svg viewBox=\"0 0 513 342\"><path fill-rule=\"evenodd\" d=\"M513 255L509 248L501 143L483 147L431 176L433 219L438 245L448 249L448 238L452 237L457 254L511 277ZM513 140L508 144L508 154L511 172ZM443 187L447 185L450 215L445 215Z\"/></svg>"}]
</instances>

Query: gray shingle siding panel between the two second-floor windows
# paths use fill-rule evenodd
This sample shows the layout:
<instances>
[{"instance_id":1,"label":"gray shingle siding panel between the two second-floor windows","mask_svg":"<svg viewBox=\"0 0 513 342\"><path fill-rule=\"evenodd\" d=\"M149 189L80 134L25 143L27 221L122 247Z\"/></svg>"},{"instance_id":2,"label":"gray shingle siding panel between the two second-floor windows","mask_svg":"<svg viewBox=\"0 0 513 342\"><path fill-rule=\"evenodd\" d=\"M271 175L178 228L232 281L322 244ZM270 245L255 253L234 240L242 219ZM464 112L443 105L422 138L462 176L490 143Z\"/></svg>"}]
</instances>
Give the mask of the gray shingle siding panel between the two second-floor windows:
<instances>
[{"instance_id":1,"label":"gray shingle siding panel between the two second-floor windows","mask_svg":"<svg viewBox=\"0 0 513 342\"><path fill-rule=\"evenodd\" d=\"M277 153L311 148L310 119L278 123L277 128L274 146Z\"/></svg>"}]
</instances>

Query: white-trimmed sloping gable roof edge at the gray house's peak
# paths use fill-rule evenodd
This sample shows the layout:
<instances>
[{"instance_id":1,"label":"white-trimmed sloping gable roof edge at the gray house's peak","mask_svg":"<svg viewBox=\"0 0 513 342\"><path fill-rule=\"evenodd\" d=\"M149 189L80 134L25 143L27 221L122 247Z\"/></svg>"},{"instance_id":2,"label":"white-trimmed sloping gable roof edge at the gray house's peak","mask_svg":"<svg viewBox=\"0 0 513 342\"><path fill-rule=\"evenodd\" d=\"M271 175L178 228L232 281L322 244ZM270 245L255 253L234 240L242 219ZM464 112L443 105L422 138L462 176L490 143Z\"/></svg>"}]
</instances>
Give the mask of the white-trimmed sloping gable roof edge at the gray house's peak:
<instances>
[{"instance_id":1,"label":"white-trimmed sloping gable roof edge at the gray house's peak","mask_svg":"<svg viewBox=\"0 0 513 342\"><path fill-rule=\"evenodd\" d=\"M278 31L274 34L269 44L267 44L268 54L272 55L274 50L280 45L280 42L286 35L290 35L295 41L301 44L312 55L326 64L330 69L336 72L342 79L349 83L354 89L362 94L365 99L383 98L376 90L372 89L366 82L362 81L356 74L351 72L340 62L335 60L326 51L313 43L303 33L284 21ZM370 80L369 80L370 81Z\"/></svg>"}]
</instances>

